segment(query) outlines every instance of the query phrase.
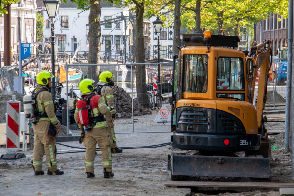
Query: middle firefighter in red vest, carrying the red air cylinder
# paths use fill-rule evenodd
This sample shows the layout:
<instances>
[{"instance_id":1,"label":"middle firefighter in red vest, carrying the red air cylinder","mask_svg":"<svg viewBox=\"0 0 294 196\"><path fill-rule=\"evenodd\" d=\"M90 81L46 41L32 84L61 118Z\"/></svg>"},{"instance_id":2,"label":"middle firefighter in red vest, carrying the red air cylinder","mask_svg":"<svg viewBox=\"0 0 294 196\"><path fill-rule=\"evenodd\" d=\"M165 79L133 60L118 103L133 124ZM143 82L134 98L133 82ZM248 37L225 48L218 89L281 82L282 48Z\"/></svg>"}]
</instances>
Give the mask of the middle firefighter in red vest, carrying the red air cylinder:
<instances>
[{"instance_id":1,"label":"middle firefighter in red vest, carrying the red air cylinder","mask_svg":"<svg viewBox=\"0 0 294 196\"><path fill-rule=\"evenodd\" d=\"M91 79L83 79L79 83L79 88L82 93L82 98L87 98L91 94L95 94L94 80ZM107 106L104 102L103 98L98 95L93 95L90 98L89 105L92 107L93 111L93 119L95 119L95 125L90 131L82 131L81 137L79 139L80 143L84 142L84 146L86 147L86 158L85 158L85 167L86 174L88 178L95 177L94 174L94 159L96 152L96 144L98 143L99 148L102 152L102 165L104 178L113 177L114 174L112 172L112 157L111 157L111 142L109 138L109 134L107 132L107 124L104 119L104 114L109 113L112 110L111 107ZM80 129L85 129L79 122L80 111L76 108L74 117L75 121L78 124ZM79 114L78 114L79 113ZM90 117L89 117L90 118ZM93 120L92 119L92 120Z\"/></svg>"}]
</instances>

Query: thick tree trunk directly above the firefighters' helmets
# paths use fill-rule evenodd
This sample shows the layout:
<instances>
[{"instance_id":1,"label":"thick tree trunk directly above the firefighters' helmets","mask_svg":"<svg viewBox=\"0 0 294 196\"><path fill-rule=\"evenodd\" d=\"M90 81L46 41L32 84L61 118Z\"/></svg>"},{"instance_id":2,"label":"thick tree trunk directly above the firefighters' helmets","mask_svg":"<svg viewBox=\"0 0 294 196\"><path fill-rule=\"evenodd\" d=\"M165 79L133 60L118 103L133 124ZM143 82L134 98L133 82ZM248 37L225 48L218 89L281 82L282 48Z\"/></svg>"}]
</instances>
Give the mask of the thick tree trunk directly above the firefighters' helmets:
<instances>
[{"instance_id":1,"label":"thick tree trunk directly above the firefighters' helmets","mask_svg":"<svg viewBox=\"0 0 294 196\"><path fill-rule=\"evenodd\" d=\"M98 4L94 2L98 1ZM89 14L89 64L99 64L100 60L100 0L90 0L90 14ZM99 81L99 66L88 66L88 78Z\"/></svg>"}]
</instances>

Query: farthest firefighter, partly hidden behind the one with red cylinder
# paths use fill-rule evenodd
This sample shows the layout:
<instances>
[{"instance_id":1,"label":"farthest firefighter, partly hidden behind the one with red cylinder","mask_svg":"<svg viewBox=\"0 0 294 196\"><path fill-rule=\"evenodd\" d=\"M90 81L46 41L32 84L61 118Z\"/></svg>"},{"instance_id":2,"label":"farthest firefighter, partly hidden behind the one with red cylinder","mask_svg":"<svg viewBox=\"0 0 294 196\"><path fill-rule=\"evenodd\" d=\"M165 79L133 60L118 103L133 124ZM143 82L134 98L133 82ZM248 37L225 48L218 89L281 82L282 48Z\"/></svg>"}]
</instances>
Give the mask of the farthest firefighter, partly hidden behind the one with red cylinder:
<instances>
[{"instance_id":1,"label":"farthest firefighter, partly hidden behind the one with red cylinder","mask_svg":"<svg viewBox=\"0 0 294 196\"><path fill-rule=\"evenodd\" d=\"M98 86L101 86L101 96L108 106L115 106L114 105L114 96L112 88L114 86L114 82L111 79L114 75L110 71L102 71L99 75L99 82L97 83ZM98 90L99 92L99 90ZM108 133L111 136L111 153L121 153L123 150L119 149L116 145L116 137L114 133L114 120L115 120L115 109L111 110L109 113L105 114L106 123L108 126Z\"/></svg>"}]
</instances>

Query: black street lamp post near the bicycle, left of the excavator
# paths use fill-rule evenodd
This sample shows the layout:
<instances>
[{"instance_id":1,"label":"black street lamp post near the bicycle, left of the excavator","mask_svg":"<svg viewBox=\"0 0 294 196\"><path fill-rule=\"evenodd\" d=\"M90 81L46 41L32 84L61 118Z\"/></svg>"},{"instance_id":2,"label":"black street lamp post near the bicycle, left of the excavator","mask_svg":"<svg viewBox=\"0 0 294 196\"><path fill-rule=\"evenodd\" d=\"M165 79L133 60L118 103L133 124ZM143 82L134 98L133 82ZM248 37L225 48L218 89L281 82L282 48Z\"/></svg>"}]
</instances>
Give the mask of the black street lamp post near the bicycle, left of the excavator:
<instances>
[{"instance_id":1,"label":"black street lamp post near the bicycle, left of the excavator","mask_svg":"<svg viewBox=\"0 0 294 196\"><path fill-rule=\"evenodd\" d=\"M159 36L161 33L163 22L159 19L159 16L157 15L156 20L153 21L155 32L157 33L157 94L159 96L159 100L161 103L161 80L160 80L160 44L159 44Z\"/></svg>"}]
</instances>

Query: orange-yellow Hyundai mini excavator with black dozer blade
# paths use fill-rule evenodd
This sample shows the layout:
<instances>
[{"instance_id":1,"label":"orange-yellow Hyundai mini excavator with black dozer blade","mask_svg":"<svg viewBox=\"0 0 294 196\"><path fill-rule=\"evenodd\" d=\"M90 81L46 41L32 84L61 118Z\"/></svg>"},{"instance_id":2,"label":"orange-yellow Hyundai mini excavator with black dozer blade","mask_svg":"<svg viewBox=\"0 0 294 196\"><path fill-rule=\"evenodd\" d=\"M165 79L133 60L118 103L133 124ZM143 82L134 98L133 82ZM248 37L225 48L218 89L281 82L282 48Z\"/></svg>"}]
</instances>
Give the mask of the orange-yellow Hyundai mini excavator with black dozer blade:
<instances>
[{"instance_id":1,"label":"orange-yellow Hyundai mini excavator with black dozer blade","mask_svg":"<svg viewBox=\"0 0 294 196\"><path fill-rule=\"evenodd\" d=\"M269 178L271 149L263 110L272 64L270 40L253 41L250 52L237 50L238 42L238 36L210 31L183 35L173 59L171 146L197 151L168 155L171 179Z\"/></svg>"}]
</instances>

